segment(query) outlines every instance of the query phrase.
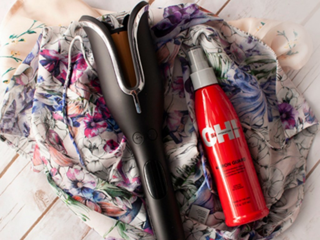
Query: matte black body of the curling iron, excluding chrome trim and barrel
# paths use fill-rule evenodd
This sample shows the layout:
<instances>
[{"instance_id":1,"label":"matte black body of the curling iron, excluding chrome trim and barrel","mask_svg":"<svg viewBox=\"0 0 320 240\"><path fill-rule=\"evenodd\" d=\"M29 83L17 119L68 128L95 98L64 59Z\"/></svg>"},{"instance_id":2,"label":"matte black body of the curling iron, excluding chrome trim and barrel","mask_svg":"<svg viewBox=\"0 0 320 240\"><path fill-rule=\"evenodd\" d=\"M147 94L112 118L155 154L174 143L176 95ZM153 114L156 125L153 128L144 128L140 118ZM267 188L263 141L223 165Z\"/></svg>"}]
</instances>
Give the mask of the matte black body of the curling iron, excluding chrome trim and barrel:
<instances>
[{"instance_id":1,"label":"matte black body of the curling iron, excluding chrome trim and barrel","mask_svg":"<svg viewBox=\"0 0 320 240\"><path fill-rule=\"evenodd\" d=\"M130 36L130 24L134 24L135 15L146 4L148 3L138 4L129 16L129 41L133 41ZM141 113L137 112L132 96L124 93L119 87L112 56L106 47L106 39L109 41L108 44L113 44L108 28L88 16L83 16L80 22L90 23L84 24L83 27L91 44L103 96L135 156L156 238L184 240L180 211L162 143L163 84L150 35L148 12L141 16L136 35L145 79L143 89L138 93ZM99 28L104 36L101 36Z\"/></svg>"}]
</instances>

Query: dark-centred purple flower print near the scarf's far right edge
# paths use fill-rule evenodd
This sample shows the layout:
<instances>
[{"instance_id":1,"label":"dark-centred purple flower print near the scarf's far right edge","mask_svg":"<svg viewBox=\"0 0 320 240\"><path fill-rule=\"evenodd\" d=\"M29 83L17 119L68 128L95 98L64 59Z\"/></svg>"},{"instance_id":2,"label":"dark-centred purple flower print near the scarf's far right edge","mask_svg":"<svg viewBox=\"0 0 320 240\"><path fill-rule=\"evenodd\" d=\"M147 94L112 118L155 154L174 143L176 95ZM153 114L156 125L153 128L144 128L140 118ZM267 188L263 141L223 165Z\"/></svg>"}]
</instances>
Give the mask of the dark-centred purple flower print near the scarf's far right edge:
<instances>
[{"instance_id":1,"label":"dark-centred purple flower print near the scarf's far right edge","mask_svg":"<svg viewBox=\"0 0 320 240\"><path fill-rule=\"evenodd\" d=\"M298 111L286 102L280 103L278 109L284 129L293 129L298 119Z\"/></svg>"}]
</instances>

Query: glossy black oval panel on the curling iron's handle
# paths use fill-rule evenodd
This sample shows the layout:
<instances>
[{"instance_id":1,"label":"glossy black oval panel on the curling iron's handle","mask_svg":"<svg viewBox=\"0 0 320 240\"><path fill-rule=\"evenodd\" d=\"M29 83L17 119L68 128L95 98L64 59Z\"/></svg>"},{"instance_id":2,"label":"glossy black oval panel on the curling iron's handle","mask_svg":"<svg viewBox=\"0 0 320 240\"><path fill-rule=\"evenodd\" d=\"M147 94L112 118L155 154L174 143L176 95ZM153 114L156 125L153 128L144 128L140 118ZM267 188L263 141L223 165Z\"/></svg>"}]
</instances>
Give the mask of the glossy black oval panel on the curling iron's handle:
<instances>
[{"instance_id":1,"label":"glossy black oval panel on the curling iron's handle","mask_svg":"<svg viewBox=\"0 0 320 240\"><path fill-rule=\"evenodd\" d=\"M161 199L166 195L167 182L164 169L158 161L151 160L144 165L144 177L148 191L153 198Z\"/></svg>"}]
</instances>

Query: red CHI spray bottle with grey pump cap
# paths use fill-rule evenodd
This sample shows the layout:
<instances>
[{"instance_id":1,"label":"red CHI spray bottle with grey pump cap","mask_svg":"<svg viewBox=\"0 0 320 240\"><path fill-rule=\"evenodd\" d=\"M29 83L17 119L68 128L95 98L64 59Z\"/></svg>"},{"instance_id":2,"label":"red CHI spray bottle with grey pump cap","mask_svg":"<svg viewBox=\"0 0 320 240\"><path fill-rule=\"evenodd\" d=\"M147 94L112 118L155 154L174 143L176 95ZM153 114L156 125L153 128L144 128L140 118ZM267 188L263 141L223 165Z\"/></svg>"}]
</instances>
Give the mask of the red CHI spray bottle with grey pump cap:
<instances>
[{"instance_id":1,"label":"red CHI spray bottle with grey pump cap","mask_svg":"<svg viewBox=\"0 0 320 240\"><path fill-rule=\"evenodd\" d=\"M261 219L269 210L236 111L219 86L202 48L191 48L188 57L198 129L226 224L232 227Z\"/></svg>"}]
</instances>

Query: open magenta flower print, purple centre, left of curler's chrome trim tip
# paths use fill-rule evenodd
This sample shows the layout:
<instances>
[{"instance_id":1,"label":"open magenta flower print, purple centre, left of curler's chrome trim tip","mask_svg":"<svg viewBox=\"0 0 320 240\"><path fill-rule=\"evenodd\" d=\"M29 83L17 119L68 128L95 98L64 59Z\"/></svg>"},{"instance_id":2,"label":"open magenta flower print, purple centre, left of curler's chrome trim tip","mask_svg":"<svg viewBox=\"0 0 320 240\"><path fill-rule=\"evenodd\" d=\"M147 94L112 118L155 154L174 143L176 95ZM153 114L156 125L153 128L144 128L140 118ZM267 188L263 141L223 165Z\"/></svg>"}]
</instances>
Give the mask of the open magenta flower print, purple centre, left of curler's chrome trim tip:
<instances>
[{"instance_id":1,"label":"open magenta flower print, purple centre, left of curler's chrome trim tip","mask_svg":"<svg viewBox=\"0 0 320 240\"><path fill-rule=\"evenodd\" d=\"M107 122L103 119L102 114L95 109L93 116L87 115L84 117L84 135L87 138L92 138L104 132L108 128Z\"/></svg>"}]
</instances>

